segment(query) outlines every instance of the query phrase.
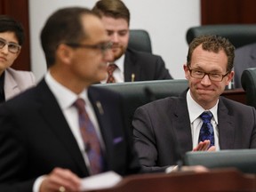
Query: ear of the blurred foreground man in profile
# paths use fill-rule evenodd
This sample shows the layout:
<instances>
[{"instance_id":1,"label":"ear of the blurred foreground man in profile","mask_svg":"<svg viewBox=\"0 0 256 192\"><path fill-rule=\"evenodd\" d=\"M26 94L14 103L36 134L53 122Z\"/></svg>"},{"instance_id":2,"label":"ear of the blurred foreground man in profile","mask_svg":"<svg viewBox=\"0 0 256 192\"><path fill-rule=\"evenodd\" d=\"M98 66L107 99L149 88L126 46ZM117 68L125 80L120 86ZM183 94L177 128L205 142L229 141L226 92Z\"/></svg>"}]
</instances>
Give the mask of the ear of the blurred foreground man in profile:
<instances>
[{"instance_id":1,"label":"ear of the blurred foreground man in profile","mask_svg":"<svg viewBox=\"0 0 256 192\"><path fill-rule=\"evenodd\" d=\"M56 51L56 60L61 63L68 64L71 62L73 56L73 50L66 44L60 44Z\"/></svg>"}]
</instances>

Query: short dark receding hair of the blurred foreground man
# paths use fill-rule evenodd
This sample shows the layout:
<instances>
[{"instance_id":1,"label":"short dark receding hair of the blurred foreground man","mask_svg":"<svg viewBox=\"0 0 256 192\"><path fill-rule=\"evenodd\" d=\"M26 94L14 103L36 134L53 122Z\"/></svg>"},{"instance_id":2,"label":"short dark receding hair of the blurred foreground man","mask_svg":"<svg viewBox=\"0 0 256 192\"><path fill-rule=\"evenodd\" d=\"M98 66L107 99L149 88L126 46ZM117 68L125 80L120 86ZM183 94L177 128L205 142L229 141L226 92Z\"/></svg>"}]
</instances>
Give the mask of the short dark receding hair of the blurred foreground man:
<instances>
[{"instance_id":1,"label":"short dark receding hair of the blurred foreground man","mask_svg":"<svg viewBox=\"0 0 256 192\"><path fill-rule=\"evenodd\" d=\"M79 43L86 38L86 31L81 23L83 15L95 15L82 7L68 7L53 12L41 32L41 44L44 50L47 68L55 62L55 52L62 43Z\"/></svg>"}]
</instances>

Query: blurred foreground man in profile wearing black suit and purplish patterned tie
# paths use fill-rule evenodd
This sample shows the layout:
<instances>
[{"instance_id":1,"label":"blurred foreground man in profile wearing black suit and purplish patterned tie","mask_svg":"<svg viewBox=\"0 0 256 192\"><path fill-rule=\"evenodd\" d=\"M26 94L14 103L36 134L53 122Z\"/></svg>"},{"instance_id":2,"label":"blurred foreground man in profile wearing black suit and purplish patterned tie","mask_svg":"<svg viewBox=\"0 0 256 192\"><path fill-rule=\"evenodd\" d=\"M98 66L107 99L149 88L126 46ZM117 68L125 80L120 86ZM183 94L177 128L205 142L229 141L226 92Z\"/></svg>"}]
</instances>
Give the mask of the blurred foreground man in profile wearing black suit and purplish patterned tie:
<instances>
[{"instance_id":1,"label":"blurred foreground man in profile wearing black suit and purplish patterned tie","mask_svg":"<svg viewBox=\"0 0 256 192\"><path fill-rule=\"evenodd\" d=\"M120 95L90 86L113 59L99 16L60 9L41 43L44 79L0 107L0 191L80 191L80 178L139 172Z\"/></svg>"}]
</instances>

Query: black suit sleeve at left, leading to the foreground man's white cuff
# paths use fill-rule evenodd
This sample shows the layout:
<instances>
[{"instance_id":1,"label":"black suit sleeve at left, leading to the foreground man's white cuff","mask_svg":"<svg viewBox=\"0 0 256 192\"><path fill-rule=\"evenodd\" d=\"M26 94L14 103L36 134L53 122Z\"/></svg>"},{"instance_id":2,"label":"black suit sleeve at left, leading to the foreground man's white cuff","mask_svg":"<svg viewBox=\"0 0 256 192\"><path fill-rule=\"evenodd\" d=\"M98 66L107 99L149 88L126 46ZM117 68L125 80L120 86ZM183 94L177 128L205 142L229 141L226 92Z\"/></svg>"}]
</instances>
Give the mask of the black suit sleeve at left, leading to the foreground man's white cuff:
<instances>
[{"instance_id":1,"label":"black suit sleeve at left, leading to the foreground man's white cuff","mask_svg":"<svg viewBox=\"0 0 256 192\"><path fill-rule=\"evenodd\" d=\"M0 108L0 191L31 191L35 180L26 180L22 132L9 114L8 108Z\"/></svg>"}]
</instances>

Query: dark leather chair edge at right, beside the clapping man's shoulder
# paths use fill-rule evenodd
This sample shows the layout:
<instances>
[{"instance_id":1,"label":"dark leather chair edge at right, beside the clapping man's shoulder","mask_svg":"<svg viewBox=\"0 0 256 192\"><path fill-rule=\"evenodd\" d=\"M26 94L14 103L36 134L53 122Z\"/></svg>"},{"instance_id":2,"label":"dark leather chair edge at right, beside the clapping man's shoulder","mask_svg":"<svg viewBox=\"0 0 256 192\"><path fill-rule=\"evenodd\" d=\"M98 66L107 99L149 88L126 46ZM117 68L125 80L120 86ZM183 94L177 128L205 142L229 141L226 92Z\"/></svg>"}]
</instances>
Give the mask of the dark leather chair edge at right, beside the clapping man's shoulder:
<instances>
[{"instance_id":1,"label":"dark leather chair edge at right, beside the clapping man's shoulder","mask_svg":"<svg viewBox=\"0 0 256 192\"><path fill-rule=\"evenodd\" d=\"M241 76L241 84L246 92L246 103L256 108L256 68L247 68Z\"/></svg>"}]
</instances>

